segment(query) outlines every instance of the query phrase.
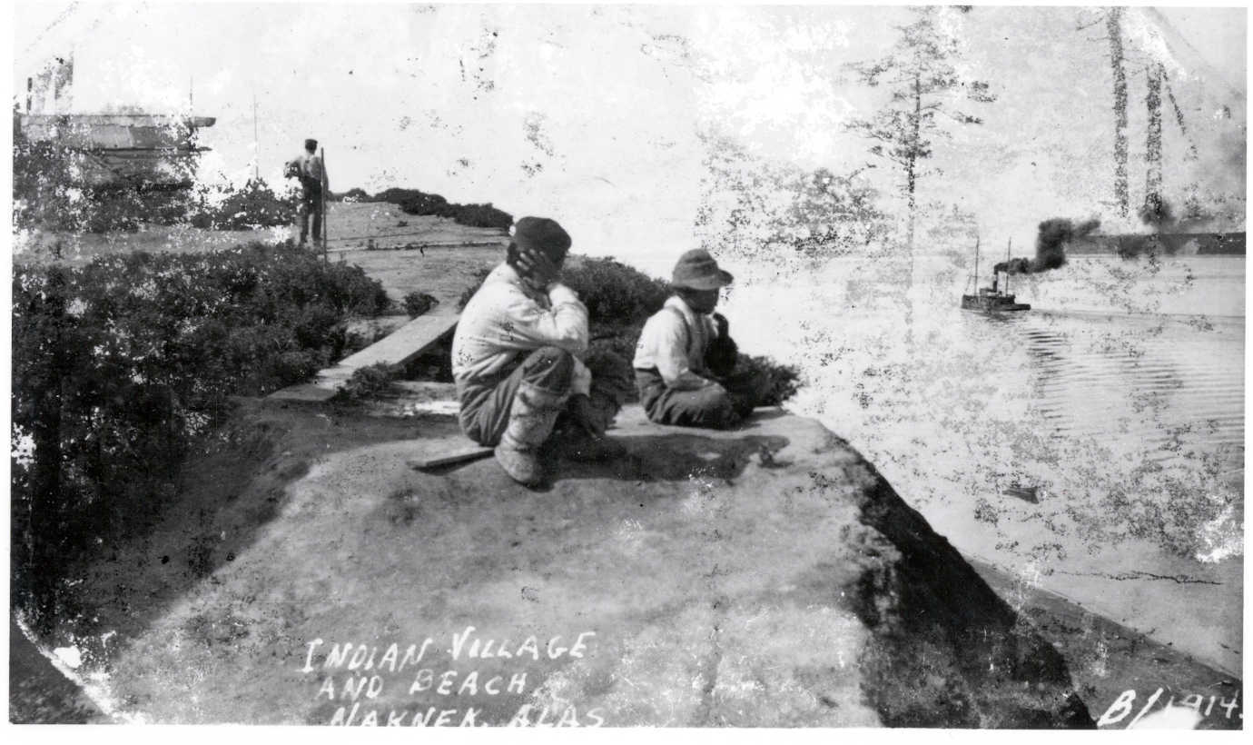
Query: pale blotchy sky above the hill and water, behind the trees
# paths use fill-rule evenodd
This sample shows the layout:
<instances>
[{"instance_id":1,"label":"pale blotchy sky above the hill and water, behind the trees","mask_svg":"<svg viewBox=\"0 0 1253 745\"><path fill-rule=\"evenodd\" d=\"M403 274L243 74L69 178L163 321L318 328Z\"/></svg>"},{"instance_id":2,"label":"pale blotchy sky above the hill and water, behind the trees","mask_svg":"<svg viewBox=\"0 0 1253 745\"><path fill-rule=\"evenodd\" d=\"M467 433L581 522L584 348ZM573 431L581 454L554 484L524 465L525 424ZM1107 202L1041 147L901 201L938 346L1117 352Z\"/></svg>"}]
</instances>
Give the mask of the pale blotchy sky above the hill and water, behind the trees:
<instances>
[{"instance_id":1,"label":"pale blotchy sky above the hill and water, behind the trees","mask_svg":"<svg viewBox=\"0 0 1253 745\"><path fill-rule=\"evenodd\" d=\"M1091 10L950 15L962 71L999 100L977 112L982 125L937 142L920 197L1020 245L1045 217L1108 222L1110 74L1103 29L1079 28ZM885 93L846 65L880 56L906 20L902 8L812 5L44 3L15 11L13 84L73 54L74 112L214 117L205 179L256 168L277 182L315 137L336 191L416 187L549 214L584 252L629 257L690 247L710 135L803 169L873 163L843 124ZM1169 114L1168 192L1199 183L1243 199L1245 29L1243 9L1129 11L1133 202L1149 59L1167 64L1188 130ZM885 164L866 174L885 193L897 183Z\"/></svg>"}]
</instances>

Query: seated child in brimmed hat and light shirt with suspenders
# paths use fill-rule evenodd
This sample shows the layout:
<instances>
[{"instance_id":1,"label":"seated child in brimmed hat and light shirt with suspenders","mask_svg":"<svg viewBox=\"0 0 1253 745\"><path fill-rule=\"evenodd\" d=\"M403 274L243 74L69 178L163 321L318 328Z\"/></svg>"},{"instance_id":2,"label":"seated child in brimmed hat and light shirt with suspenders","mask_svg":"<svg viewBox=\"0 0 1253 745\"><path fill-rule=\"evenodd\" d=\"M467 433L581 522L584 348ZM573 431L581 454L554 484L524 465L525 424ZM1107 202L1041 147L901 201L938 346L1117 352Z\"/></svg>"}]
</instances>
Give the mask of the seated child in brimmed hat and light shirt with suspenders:
<instances>
[{"instance_id":1,"label":"seated child in brimmed hat and light shirt with suspenders","mask_svg":"<svg viewBox=\"0 0 1253 745\"><path fill-rule=\"evenodd\" d=\"M674 267L674 295L654 314L635 347L635 386L652 421L727 429L768 393L762 375L736 372L738 350L727 319L713 312L732 276L708 251L688 251Z\"/></svg>"}]
</instances>

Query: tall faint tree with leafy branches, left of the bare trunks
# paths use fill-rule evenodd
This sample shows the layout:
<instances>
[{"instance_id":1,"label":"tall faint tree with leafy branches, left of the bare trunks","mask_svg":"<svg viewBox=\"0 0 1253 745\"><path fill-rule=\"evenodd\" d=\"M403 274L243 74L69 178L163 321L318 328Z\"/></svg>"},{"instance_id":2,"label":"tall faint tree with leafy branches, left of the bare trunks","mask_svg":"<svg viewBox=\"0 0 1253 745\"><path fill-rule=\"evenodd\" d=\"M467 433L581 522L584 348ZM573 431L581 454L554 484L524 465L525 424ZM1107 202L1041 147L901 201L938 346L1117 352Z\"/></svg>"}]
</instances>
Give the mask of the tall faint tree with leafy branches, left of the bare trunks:
<instances>
[{"instance_id":1,"label":"tall faint tree with leafy branches, left of the bare trunks","mask_svg":"<svg viewBox=\"0 0 1253 745\"><path fill-rule=\"evenodd\" d=\"M936 114L944 114L957 124L981 124L982 119L952 108L951 102L964 97L976 103L991 103L996 95L987 83L966 80L957 73L954 64L960 56L957 40L945 34L936 23L941 14L954 13L954 9L925 6L911 10L913 23L896 26L901 35L887 56L848 65L862 83L883 85L892 98L870 118L853 119L847 127L872 140L875 144L870 152L893 163L905 176L901 186L908 209L907 245L912 262L917 183L925 174L922 161L931 158L935 137L949 135Z\"/></svg>"}]
</instances>

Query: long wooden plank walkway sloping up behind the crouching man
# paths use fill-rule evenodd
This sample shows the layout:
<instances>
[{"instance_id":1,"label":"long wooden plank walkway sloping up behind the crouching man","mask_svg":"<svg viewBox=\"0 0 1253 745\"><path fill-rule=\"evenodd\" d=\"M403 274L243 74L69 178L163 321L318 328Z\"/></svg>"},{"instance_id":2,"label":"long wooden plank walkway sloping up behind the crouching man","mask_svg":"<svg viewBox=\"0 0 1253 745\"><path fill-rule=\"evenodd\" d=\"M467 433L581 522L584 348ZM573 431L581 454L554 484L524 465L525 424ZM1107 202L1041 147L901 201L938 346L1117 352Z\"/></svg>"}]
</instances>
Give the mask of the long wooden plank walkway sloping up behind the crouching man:
<instances>
[{"instance_id":1,"label":"long wooden plank walkway sloping up behind the crouching man","mask_svg":"<svg viewBox=\"0 0 1253 745\"><path fill-rule=\"evenodd\" d=\"M366 349L340 360L333 367L320 371L313 383L284 388L269 394L269 398L279 401L327 401L361 367L380 362L403 365L417 357L451 334L460 317L452 312L421 315Z\"/></svg>"}]
</instances>

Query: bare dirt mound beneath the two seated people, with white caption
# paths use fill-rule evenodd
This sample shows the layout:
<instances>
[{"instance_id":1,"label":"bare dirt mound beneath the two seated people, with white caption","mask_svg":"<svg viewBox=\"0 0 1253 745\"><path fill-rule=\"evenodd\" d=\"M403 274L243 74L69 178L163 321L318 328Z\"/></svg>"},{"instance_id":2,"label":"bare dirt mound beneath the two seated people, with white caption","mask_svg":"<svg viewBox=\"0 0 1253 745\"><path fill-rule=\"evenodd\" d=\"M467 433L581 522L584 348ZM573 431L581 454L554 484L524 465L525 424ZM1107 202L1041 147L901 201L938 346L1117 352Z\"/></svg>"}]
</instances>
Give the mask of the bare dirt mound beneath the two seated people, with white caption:
<instances>
[{"instance_id":1,"label":"bare dirt mound beneath the two seated people, with white caption","mask_svg":"<svg viewBox=\"0 0 1253 745\"><path fill-rule=\"evenodd\" d=\"M911 531L896 547L861 522L860 479L873 477L821 426L764 413L742 431L693 433L633 410L615 436L632 459L561 460L550 488L529 492L491 459L407 468L415 449L457 439L449 418L244 401L192 459L162 524L84 568L83 616L60 637L105 680L99 704L122 721L361 724L378 711L411 725L455 711L460 724L474 710L490 724L523 711L583 726L870 726L885 706L965 721L951 696L1001 726L1022 711L1054 721L1064 672L1048 665L1024 691L1011 671L971 677L933 637L933 675L887 675L912 655L900 645L917 642L888 618L937 596L907 592L913 582L965 577L947 592L957 615L1006 648L1014 632L942 541ZM903 509L891 492L872 500L883 519ZM955 573L920 577L910 556L947 557ZM877 610L863 586L878 588ZM470 626L496 653L456 656L454 635ZM420 665L385 661L391 643L425 638ZM375 648L371 667L337 661L347 643ZM445 675L456 682L441 692ZM346 692L376 677L375 695ZM1005 696L1016 705L989 709Z\"/></svg>"}]
</instances>

